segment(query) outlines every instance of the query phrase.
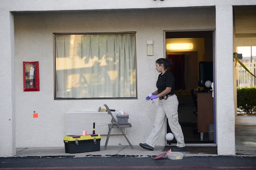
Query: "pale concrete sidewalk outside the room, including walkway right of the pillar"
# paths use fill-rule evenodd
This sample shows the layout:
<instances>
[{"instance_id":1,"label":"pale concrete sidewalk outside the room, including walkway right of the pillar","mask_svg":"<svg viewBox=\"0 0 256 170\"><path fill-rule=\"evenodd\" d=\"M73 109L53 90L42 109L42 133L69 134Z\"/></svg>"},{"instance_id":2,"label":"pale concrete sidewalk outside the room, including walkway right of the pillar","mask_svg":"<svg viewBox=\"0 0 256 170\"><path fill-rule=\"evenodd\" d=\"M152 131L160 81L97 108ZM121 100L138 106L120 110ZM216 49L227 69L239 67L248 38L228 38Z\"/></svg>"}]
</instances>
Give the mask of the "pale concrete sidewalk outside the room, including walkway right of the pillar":
<instances>
[{"instance_id":1,"label":"pale concrete sidewalk outside the room, including walkway right of the pillar","mask_svg":"<svg viewBox=\"0 0 256 170\"><path fill-rule=\"evenodd\" d=\"M256 125L252 116L237 116L236 118L236 156L256 156ZM240 121L240 122L239 122ZM171 145L172 146L172 145ZM175 144L173 145L175 146ZM193 144L186 144L186 146L193 146ZM215 145L216 146L216 145ZM88 157L88 156L134 156L134 157L153 157L163 151L164 146L157 146L153 151L145 150L139 145L133 145L134 149L128 146L104 146L100 147L99 151L86 153L65 153L63 147L39 147L39 148L16 148L15 157L24 156L73 156L73 157ZM207 147L207 145L205 146ZM203 148L202 148L203 150ZM174 151L174 150L172 150ZM217 154L205 153L189 153L180 150L186 156L218 156Z\"/></svg>"}]
</instances>

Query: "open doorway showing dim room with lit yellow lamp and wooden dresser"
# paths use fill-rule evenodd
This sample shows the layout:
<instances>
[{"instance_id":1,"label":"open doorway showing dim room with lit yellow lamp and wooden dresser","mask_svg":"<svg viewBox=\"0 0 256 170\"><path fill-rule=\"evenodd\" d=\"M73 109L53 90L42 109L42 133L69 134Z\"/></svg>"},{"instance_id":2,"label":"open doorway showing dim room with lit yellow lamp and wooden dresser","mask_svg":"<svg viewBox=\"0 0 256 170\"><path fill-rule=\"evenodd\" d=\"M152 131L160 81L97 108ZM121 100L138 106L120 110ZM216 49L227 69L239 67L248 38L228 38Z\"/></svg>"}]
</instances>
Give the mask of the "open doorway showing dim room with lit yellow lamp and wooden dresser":
<instances>
[{"instance_id":1,"label":"open doorway showing dim room with lit yellow lamp and wooden dresser","mask_svg":"<svg viewBox=\"0 0 256 170\"><path fill-rule=\"evenodd\" d=\"M179 122L185 143L215 143L212 97L214 31L166 31L165 42L166 58L171 59L174 64L171 71L175 75ZM207 80L209 81L205 83ZM167 133L169 132L172 131L167 123ZM167 143L176 144L176 141L174 139Z\"/></svg>"}]
</instances>

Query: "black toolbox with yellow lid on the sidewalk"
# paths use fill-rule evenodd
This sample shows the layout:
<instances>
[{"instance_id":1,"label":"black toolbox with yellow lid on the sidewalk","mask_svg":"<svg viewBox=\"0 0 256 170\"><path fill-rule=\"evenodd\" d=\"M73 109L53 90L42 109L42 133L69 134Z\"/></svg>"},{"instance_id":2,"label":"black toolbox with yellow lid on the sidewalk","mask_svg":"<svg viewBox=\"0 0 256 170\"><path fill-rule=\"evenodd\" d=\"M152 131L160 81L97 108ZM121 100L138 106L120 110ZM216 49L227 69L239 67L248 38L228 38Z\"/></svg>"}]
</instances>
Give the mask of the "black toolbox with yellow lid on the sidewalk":
<instances>
[{"instance_id":1,"label":"black toolbox with yellow lid on the sidewalk","mask_svg":"<svg viewBox=\"0 0 256 170\"><path fill-rule=\"evenodd\" d=\"M86 136L64 136L65 153L82 153L100 150L101 136L98 134Z\"/></svg>"}]
</instances>

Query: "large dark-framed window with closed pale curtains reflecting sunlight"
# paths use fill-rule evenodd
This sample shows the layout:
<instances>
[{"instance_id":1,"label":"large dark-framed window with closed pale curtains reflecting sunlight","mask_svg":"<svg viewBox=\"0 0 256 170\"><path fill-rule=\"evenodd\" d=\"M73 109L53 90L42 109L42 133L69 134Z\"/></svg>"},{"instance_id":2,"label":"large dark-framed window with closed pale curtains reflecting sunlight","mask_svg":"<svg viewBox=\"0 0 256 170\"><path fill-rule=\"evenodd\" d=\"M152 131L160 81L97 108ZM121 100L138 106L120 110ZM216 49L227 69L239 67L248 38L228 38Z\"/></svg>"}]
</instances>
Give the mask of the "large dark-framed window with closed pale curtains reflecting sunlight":
<instances>
[{"instance_id":1,"label":"large dark-framed window with closed pale curtains reflecting sunlight","mask_svg":"<svg viewBox=\"0 0 256 170\"><path fill-rule=\"evenodd\" d=\"M136 98L136 33L54 34L55 99Z\"/></svg>"}]
</instances>

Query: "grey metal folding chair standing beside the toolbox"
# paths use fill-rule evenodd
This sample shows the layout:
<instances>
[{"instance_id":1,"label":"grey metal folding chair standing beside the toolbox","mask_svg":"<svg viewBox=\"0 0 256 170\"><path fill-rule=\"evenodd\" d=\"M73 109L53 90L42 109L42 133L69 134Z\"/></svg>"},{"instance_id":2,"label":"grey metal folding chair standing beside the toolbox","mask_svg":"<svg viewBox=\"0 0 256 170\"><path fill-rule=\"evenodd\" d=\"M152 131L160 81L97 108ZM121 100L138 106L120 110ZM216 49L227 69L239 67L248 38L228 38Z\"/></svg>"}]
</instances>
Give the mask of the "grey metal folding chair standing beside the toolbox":
<instances>
[{"instance_id":1,"label":"grey metal folding chair standing beside the toolbox","mask_svg":"<svg viewBox=\"0 0 256 170\"><path fill-rule=\"evenodd\" d=\"M106 104L104 104L104 106L106 107L108 114L110 114L111 117L112 117L111 123L108 124L108 136L107 136L106 143L105 143L105 149L107 149L108 139L109 139L112 128L119 128L121 130L123 136L125 136L125 139L127 140L127 142L130 144L131 148L133 149L133 146L131 145L131 142L129 141L129 139L126 137L125 133L122 130L122 128L131 127L131 123L128 123L127 125L119 125L116 122L116 119L114 118L114 116L111 113L111 110L108 108L108 106Z\"/></svg>"}]
</instances>

